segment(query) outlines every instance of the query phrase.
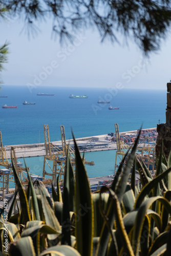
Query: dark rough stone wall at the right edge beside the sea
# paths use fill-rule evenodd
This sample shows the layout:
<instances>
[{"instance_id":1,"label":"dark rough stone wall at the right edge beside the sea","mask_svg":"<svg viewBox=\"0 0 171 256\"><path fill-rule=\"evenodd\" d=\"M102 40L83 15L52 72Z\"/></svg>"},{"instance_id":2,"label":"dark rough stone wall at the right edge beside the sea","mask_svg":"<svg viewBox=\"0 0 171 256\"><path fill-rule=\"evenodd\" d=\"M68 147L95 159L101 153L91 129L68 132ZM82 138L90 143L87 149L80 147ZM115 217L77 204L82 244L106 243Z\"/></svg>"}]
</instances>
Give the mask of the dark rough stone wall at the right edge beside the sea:
<instances>
[{"instance_id":1,"label":"dark rough stone wall at the right edge beside the sea","mask_svg":"<svg viewBox=\"0 0 171 256\"><path fill-rule=\"evenodd\" d=\"M167 108L166 123L157 125L157 142L156 142L156 158L158 159L161 151L161 142L163 140L163 152L168 158L171 150L171 82L167 83Z\"/></svg>"}]
</instances>

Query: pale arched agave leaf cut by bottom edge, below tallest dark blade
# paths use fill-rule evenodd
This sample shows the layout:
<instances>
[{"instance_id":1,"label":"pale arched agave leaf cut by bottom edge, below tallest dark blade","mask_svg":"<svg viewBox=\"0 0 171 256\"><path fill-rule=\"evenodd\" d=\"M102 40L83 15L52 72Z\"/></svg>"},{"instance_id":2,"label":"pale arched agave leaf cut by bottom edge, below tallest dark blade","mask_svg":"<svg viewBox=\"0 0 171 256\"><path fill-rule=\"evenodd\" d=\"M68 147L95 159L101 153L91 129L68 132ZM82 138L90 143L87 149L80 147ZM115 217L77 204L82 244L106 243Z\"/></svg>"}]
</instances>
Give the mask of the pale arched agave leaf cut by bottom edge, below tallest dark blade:
<instances>
[{"instance_id":1,"label":"pale arched agave leaf cut by bottom edge, below tallest dark blade","mask_svg":"<svg viewBox=\"0 0 171 256\"><path fill-rule=\"evenodd\" d=\"M82 256L76 249L69 245L57 245L57 246L52 246L45 251L41 252L39 256L44 256L46 254L54 253L55 255L59 256L65 256L65 255L70 255L70 256Z\"/></svg>"}]
</instances>

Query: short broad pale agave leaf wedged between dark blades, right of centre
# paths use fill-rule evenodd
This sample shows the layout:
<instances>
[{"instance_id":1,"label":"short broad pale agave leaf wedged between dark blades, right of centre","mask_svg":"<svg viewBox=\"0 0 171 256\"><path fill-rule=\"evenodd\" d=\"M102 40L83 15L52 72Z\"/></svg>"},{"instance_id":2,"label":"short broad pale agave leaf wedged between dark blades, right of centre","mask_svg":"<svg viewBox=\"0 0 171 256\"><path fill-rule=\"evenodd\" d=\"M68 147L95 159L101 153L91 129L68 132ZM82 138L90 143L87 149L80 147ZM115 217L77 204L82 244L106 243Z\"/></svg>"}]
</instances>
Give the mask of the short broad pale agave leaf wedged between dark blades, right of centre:
<instances>
[{"instance_id":1,"label":"short broad pale agave leaf wedged between dark blades, right of centre","mask_svg":"<svg viewBox=\"0 0 171 256\"><path fill-rule=\"evenodd\" d=\"M130 212L134 209L134 204L135 204L134 192L130 187L130 184L127 184L126 191L122 199L122 206L125 214L127 214L127 212Z\"/></svg>"}]
</instances>

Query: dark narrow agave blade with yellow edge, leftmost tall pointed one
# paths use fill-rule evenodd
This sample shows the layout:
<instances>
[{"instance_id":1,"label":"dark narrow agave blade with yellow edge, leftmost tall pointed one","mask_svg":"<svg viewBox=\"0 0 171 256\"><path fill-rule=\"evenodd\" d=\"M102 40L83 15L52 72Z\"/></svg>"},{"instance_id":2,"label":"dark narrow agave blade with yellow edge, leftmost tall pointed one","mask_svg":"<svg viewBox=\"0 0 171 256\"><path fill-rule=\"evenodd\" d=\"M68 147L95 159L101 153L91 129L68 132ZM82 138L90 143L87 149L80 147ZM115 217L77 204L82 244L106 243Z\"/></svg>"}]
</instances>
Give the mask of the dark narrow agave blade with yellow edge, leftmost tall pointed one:
<instances>
[{"instance_id":1,"label":"dark narrow agave blade with yellow edge, leftmost tall pointed one","mask_svg":"<svg viewBox=\"0 0 171 256\"><path fill-rule=\"evenodd\" d=\"M27 223L28 221L31 220L27 196L26 196L23 184L20 182L20 179L18 177L18 174L13 162L12 162L12 168L13 168L13 174L15 177L15 184L17 186L17 190L19 193L20 208L22 209L22 217L23 217L24 223Z\"/></svg>"}]
</instances>

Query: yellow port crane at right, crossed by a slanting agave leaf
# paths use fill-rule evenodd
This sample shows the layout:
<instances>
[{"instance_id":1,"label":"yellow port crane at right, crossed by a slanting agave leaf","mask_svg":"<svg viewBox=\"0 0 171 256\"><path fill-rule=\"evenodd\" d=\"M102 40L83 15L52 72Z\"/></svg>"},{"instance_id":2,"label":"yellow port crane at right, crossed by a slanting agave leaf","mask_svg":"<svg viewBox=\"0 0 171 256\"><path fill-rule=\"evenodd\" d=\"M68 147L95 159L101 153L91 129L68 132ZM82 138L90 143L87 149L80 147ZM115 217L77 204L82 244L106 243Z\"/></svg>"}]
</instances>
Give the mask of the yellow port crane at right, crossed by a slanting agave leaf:
<instances>
[{"instance_id":1,"label":"yellow port crane at right, crossed by a slanting agave leaf","mask_svg":"<svg viewBox=\"0 0 171 256\"><path fill-rule=\"evenodd\" d=\"M123 160L125 154L127 151L129 151L133 144L126 144L124 141L120 140L119 135L119 126L117 123L115 123L115 136L116 136L116 145L117 145L117 151L116 151L116 158L115 158L115 174L116 174L116 168L117 168L117 159ZM155 146L156 141L154 141L152 138L145 136L143 139L141 139L138 143L137 147L137 157L142 158L149 168L149 165L152 166L152 171L154 173L155 169Z\"/></svg>"}]
</instances>

